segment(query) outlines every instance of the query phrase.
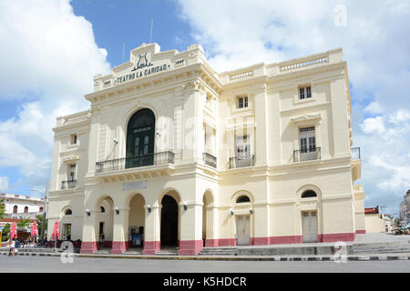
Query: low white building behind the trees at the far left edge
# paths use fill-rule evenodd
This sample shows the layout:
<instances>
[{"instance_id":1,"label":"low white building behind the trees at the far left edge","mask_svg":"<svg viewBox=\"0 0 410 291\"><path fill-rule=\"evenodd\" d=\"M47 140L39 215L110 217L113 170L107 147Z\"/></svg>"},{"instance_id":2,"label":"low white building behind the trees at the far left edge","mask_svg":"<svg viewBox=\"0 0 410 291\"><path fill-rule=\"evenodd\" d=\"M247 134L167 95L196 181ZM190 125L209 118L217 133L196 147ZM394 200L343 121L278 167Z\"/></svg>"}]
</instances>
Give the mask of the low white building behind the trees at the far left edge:
<instances>
[{"instance_id":1,"label":"low white building behind the trees at the far left edge","mask_svg":"<svg viewBox=\"0 0 410 291\"><path fill-rule=\"evenodd\" d=\"M1 193L0 199L5 205L5 218L36 219L44 211L44 198L41 197Z\"/></svg>"}]
</instances>

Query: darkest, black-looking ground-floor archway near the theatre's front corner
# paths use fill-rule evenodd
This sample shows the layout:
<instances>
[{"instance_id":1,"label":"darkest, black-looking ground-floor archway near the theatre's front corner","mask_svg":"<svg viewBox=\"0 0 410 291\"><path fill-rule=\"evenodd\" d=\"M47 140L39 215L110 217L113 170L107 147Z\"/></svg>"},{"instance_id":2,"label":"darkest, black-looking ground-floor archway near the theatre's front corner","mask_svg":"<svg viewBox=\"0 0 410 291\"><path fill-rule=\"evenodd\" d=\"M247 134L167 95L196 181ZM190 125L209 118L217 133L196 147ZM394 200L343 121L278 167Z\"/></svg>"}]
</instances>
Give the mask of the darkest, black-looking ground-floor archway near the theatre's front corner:
<instances>
[{"instance_id":1,"label":"darkest, black-looking ground-floor archway near the theatre's front corner","mask_svg":"<svg viewBox=\"0 0 410 291\"><path fill-rule=\"evenodd\" d=\"M161 200L161 246L178 245L178 203L171 196Z\"/></svg>"}]
</instances>

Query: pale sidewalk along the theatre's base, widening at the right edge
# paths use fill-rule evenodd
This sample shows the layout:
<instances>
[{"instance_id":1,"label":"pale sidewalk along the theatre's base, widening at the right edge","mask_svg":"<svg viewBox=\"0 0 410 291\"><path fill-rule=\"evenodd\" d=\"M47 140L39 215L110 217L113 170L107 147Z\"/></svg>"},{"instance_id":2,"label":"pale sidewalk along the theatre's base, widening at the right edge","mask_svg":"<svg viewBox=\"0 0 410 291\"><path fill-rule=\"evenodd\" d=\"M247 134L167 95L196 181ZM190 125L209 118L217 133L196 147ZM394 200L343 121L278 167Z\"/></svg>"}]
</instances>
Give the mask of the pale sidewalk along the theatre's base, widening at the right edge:
<instances>
[{"instance_id":1,"label":"pale sidewalk along the theatre's base, widening at the right edge","mask_svg":"<svg viewBox=\"0 0 410 291\"><path fill-rule=\"evenodd\" d=\"M381 246L377 246L381 245ZM385 247L383 247L383 245ZM255 250L254 255L243 254L240 252L236 255L209 255L203 254L199 256L177 256L169 253L157 254L157 255L141 255L138 252L132 252L122 255L110 255L109 249L95 254L72 254L74 257L94 257L94 258L122 258L122 259L155 259L155 260L224 260L224 261L334 261L340 260L340 256L331 255L331 253L319 254L319 255L306 255L299 254L302 248L306 247L330 247L334 246L334 243L313 243L313 244L296 244L296 245L271 245L271 246L226 246L220 247L225 249L236 248L239 250ZM361 253L355 253L354 255L345 255L347 261L386 261L386 260L409 260L410 259L410 236L393 236L384 233L380 234L365 234L357 235L354 242L346 243L346 246L353 246L356 249L361 249ZM401 248L405 246L405 248ZM277 255L266 254L262 256L257 251L261 249L284 249L294 248L295 254ZM395 248L395 251L387 253L389 248ZM363 251L364 249L364 251ZM368 253L366 253L368 251ZM24 250L20 249L19 256L62 256L67 254L62 250L54 252L53 249L33 249ZM328 255L329 254L329 255ZM2 247L0 249L0 255L8 255L8 248ZM67 256L67 255L66 255ZM71 256L71 255L70 255Z\"/></svg>"}]
</instances>

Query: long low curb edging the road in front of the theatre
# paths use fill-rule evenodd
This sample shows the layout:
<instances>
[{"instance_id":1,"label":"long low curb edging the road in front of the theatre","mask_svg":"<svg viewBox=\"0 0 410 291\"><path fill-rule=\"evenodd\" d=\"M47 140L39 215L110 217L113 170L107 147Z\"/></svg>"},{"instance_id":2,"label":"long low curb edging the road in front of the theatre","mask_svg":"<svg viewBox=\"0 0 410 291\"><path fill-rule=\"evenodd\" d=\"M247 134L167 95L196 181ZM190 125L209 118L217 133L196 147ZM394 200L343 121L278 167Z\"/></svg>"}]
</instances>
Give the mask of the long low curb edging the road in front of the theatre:
<instances>
[{"instance_id":1,"label":"long low curb edging the road in front of the theatre","mask_svg":"<svg viewBox=\"0 0 410 291\"><path fill-rule=\"evenodd\" d=\"M65 253L68 255L68 253ZM8 256L8 252L0 255ZM20 253L18 256L61 256L62 253ZM150 260L197 260L197 261L276 261L276 262L322 262L334 261L341 263L344 259L335 256L133 256L133 255L93 255L72 254L74 257L117 258L117 259L150 259ZM386 255L347 255L345 261L399 261L410 260L409 254Z\"/></svg>"}]
</instances>

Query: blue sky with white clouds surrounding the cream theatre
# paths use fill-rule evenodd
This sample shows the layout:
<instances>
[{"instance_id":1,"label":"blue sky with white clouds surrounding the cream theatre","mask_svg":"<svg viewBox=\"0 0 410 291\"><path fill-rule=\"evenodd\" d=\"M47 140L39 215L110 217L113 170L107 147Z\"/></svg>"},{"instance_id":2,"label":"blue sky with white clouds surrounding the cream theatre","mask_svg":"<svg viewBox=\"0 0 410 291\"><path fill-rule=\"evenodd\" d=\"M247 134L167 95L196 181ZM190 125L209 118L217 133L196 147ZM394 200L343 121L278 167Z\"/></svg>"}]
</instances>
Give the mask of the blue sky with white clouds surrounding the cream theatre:
<instances>
[{"instance_id":1,"label":"blue sky with white clouds surrounding the cream theatre","mask_svg":"<svg viewBox=\"0 0 410 291\"><path fill-rule=\"evenodd\" d=\"M152 34L150 27L151 21ZM224 72L343 48L365 206L397 215L410 189L410 2L0 0L0 191L40 196L56 116L87 110L93 75L131 49L201 44ZM36 189L36 191L30 191Z\"/></svg>"}]
</instances>

